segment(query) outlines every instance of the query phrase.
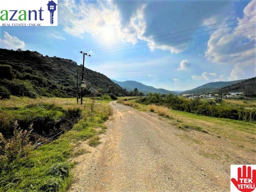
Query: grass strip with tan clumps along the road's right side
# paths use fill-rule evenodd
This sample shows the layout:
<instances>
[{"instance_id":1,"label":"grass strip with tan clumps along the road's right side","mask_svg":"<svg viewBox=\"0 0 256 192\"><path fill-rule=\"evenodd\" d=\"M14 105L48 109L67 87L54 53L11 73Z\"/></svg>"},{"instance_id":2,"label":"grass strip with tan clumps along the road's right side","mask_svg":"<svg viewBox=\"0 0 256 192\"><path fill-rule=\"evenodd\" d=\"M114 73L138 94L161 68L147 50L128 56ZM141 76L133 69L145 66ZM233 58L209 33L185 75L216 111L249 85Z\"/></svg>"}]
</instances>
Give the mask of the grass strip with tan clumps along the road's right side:
<instances>
[{"instance_id":1,"label":"grass strip with tan clumps along the road's right side","mask_svg":"<svg viewBox=\"0 0 256 192\"><path fill-rule=\"evenodd\" d=\"M135 102L135 100L129 102ZM140 111L150 112L149 106L145 104L138 104L136 108ZM157 110L154 110L154 113L158 113ZM166 118L176 128L209 133L256 152L256 122L209 117L170 109L168 109Z\"/></svg>"}]
</instances>

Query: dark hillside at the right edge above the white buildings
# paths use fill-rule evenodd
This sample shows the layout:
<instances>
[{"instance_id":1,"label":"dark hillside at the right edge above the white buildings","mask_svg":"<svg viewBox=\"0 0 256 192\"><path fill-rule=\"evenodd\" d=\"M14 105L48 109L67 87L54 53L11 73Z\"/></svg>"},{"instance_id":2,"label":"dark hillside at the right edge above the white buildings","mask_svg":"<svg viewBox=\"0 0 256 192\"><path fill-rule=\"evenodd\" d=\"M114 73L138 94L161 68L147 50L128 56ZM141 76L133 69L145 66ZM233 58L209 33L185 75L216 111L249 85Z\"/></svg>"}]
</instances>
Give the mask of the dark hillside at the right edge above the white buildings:
<instances>
[{"instance_id":1,"label":"dark hillside at the right edge above the white buildings","mask_svg":"<svg viewBox=\"0 0 256 192\"><path fill-rule=\"evenodd\" d=\"M256 97L256 77L242 80L236 84L222 87L222 93L243 92L245 96ZM220 89L217 90L220 92Z\"/></svg>"}]
</instances>

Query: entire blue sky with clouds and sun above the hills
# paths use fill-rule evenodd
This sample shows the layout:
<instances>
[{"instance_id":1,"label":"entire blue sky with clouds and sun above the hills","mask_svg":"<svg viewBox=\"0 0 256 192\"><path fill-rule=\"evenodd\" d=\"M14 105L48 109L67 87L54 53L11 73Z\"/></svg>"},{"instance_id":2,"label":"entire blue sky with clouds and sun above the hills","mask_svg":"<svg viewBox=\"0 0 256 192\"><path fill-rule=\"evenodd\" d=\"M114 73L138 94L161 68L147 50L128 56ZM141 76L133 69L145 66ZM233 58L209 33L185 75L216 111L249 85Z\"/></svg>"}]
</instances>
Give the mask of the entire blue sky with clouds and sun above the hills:
<instances>
[{"instance_id":1,"label":"entire blue sky with clouds and sun above the hills","mask_svg":"<svg viewBox=\"0 0 256 192\"><path fill-rule=\"evenodd\" d=\"M0 47L38 51L78 64L79 52L88 51L92 58L89 65L86 57L87 66L111 79L188 90L256 76L256 28L250 28L256 26L256 16L180 32L256 15L255 7L256 0L58 0L57 27L0 27ZM243 25L228 27L236 24ZM250 29L240 30L244 28ZM207 30L212 31L203 32ZM180 33L154 38L175 32ZM196 32L203 33L192 34ZM223 32L228 33L218 34ZM200 36L207 37L196 38ZM191 38L196 39L180 41ZM157 40L162 41L152 42ZM173 41L180 42L163 44ZM123 45L94 50L117 44ZM131 48L138 49L126 50Z\"/></svg>"}]
</instances>

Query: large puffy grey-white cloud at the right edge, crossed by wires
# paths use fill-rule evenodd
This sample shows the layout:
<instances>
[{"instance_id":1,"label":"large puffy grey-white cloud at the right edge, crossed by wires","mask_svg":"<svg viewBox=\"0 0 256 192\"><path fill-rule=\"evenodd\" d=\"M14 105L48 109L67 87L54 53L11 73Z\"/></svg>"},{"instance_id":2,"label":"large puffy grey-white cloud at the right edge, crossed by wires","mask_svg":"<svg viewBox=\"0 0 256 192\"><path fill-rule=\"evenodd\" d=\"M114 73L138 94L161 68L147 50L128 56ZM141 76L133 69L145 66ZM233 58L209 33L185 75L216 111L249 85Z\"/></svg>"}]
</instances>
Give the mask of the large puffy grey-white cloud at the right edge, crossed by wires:
<instances>
[{"instance_id":1,"label":"large puffy grey-white cloud at the right edge, crossed by wires","mask_svg":"<svg viewBox=\"0 0 256 192\"><path fill-rule=\"evenodd\" d=\"M244 8L243 17L255 15L256 14L256 1L252 0ZM256 16L244 18L238 20L238 24L252 22L256 20ZM227 25L225 25L227 26ZM206 58L214 63L218 64L234 64L234 68L230 73L230 80L236 80L239 78L245 78L245 73L243 68L255 68L256 63L256 32L255 28L250 28L255 26L254 23L239 25L230 33L219 34L210 36L208 41L207 50L205 52ZM250 28L246 30L240 30L244 28ZM213 34L228 32L232 28L225 28L216 30Z\"/></svg>"}]
</instances>

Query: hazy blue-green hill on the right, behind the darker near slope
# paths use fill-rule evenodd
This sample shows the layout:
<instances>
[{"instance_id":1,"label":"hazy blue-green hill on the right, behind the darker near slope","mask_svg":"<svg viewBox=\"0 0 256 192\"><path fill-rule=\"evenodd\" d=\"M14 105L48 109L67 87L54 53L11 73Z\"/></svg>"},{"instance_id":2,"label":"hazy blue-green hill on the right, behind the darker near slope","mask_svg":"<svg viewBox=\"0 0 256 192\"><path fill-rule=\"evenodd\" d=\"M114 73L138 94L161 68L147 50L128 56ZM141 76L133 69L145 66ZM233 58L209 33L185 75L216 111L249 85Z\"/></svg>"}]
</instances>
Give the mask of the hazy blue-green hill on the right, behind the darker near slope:
<instances>
[{"instance_id":1,"label":"hazy blue-green hill on the right, behind the darker near slope","mask_svg":"<svg viewBox=\"0 0 256 192\"><path fill-rule=\"evenodd\" d=\"M212 93L214 91L216 91L217 88L221 88L221 87L225 87L225 86L229 86L232 84L236 84L239 83L243 80L236 80L236 81L218 81L218 82L210 82L210 83L206 83L204 85L201 85L199 87L196 87L194 89L191 90L186 90L184 92L182 92L182 94L207 94L207 93Z\"/></svg>"}]
</instances>

